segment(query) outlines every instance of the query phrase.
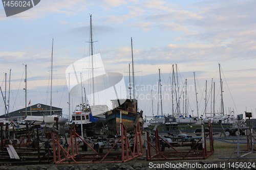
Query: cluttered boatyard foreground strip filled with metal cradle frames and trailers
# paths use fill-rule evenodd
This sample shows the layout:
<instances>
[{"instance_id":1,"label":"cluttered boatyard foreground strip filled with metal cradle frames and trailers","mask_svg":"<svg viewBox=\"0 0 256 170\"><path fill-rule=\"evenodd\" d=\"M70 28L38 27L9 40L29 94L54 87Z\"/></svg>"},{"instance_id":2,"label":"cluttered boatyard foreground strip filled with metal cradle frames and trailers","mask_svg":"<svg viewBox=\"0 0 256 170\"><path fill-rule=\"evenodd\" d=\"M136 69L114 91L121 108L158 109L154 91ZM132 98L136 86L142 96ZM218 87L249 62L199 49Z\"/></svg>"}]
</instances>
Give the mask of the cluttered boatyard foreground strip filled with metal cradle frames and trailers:
<instances>
[{"instance_id":1,"label":"cluttered boatyard foreground strip filled with metal cradle frames and trailers","mask_svg":"<svg viewBox=\"0 0 256 170\"><path fill-rule=\"evenodd\" d=\"M35 164L111 164L154 161L229 161L255 159L255 137L246 135L224 137L213 134L211 124L202 124L201 136L195 133L166 134L155 131L141 131L139 122L134 133L127 133L121 123L120 135L97 135L83 138L75 131L75 123L69 130L56 126L39 135L40 125L33 125L33 131L8 137L1 128L2 165ZM206 131L205 129L208 129ZM6 135L3 135L3 134ZM3 137L5 136L5 137ZM251 140L252 139L252 140ZM224 141L224 142L223 142ZM232 141L232 142L230 142ZM238 142L239 141L239 142ZM226 148L223 153L223 147ZM211 158L213 157L213 158Z\"/></svg>"}]
</instances>

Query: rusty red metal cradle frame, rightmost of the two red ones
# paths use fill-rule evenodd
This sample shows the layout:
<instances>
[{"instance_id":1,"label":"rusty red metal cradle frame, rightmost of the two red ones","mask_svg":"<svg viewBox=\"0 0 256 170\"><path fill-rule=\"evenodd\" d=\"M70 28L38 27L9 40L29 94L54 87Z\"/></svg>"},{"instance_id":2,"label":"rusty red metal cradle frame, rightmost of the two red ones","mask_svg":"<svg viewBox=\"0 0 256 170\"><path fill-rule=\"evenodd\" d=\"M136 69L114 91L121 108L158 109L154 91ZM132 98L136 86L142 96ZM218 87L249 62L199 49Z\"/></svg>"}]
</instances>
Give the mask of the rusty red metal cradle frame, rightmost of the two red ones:
<instances>
[{"instance_id":1,"label":"rusty red metal cradle frame, rightmost of the two red ones","mask_svg":"<svg viewBox=\"0 0 256 170\"><path fill-rule=\"evenodd\" d=\"M150 142L150 138L148 136L147 132L147 138L146 138L146 159L150 161L154 160L189 160L189 159L206 159L210 155L214 153L214 139L212 137L212 128L211 128L211 122L209 120L208 123L209 133L208 135L205 134L205 125L202 124L202 138L199 139L196 144L191 147L188 151L178 151L178 148L172 147L168 142L166 142L163 138L161 138L158 134L158 129L155 131L155 145L153 145ZM207 151L207 145L206 145L206 137L209 137L209 148L210 150ZM166 151L162 152L160 147L160 139L161 142L164 142L167 144L168 148L171 148L173 151ZM203 149L201 151L197 150L197 147L199 144L202 144ZM153 151L155 151L153 153Z\"/></svg>"}]
</instances>

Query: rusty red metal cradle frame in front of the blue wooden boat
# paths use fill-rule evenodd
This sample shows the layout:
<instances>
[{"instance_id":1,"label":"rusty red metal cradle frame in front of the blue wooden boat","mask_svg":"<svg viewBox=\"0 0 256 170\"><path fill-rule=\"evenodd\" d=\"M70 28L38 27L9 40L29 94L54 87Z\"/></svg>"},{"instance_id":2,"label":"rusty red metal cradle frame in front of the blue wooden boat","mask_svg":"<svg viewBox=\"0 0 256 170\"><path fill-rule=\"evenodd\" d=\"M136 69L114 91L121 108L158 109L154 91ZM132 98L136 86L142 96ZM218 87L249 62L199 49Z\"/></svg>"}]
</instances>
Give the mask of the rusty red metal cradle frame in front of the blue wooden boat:
<instances>
[{"instance_id":1,"label":"rusty red metal cradle frame in front of the blue wooden boat","mask_svg":"<svg viewBox=\"0 0 256 170\"><path fill-rule=\"evenodd\" d=\"M138 156L143 155L142 141L141 141L141 130L139 122L135 128L134 137L129 140L127 137L126 127L121 123L121 137L115 141L112 148L107 153L98 153L86 142L81 136L75 132L75 124L70 126L70 141L68 149L66 150L60 144L59 132L52 130L53 138L53 159L55 164L76 164L76 163L115 163L115 162L126 162L130 161ZM87 145L87 154L80 154L78 151L77 138L79 138L84 144ZM121 153L114 151L117 143L121 141ZM133 147L131 143L134 142Z\"/></svg>"}]
</instances>

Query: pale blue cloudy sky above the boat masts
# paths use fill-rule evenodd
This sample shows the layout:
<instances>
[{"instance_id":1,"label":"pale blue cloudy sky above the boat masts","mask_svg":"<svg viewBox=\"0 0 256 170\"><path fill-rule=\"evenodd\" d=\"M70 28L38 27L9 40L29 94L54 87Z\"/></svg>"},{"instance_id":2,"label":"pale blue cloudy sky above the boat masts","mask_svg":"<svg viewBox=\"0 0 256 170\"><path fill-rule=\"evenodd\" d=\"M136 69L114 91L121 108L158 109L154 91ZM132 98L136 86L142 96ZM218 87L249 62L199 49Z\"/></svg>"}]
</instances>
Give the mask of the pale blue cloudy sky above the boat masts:
<instances>
[{"instance_id":1,"label":"pale blue cloudy sky above the boat masts","mask_svg":"<svg viewBox=\"0 0 256 170\"><path fill-rule=\"evenodd\" d=\"M11 69L10 112L24 108L27 64L27 103L31 100L32 105L50 105L54 39L52 105L63 108L63 114L68 115L65 71L70 64L89 54L91 14L93 37L97 41L95 53L100 53L106 72L120 72L126 85L133 37L136 97L144 114L152 115L152 96L153 113L161 114L157 109L160 108L158 69L162 87L172 87L173 64L180 86L180 104L187 101L187 109L180 105L181 112L187 110L192 114L194 111L194 115L197 112L194 72L199 115L204 113L205 91L206 112L213 110L213 101L215 111L220 111L219 63L225 112L255 113L255 7L255 1L44 0L30 10L6 17L1 4L0 85L5 95L7 73L8 99ZM187 96L182 100L185 79ZM214 89L213 82L215 100L213 90L210 92ZM172 98L167 99L172 91L162 90L163 113L172 114ZM79 104L77 96L71 96L70 103L74 109ZM0 104L4 113L3 99ZM175 101L174 105L176 107Z\"/></svg>"}]
</instances>

